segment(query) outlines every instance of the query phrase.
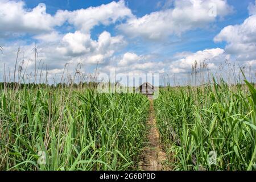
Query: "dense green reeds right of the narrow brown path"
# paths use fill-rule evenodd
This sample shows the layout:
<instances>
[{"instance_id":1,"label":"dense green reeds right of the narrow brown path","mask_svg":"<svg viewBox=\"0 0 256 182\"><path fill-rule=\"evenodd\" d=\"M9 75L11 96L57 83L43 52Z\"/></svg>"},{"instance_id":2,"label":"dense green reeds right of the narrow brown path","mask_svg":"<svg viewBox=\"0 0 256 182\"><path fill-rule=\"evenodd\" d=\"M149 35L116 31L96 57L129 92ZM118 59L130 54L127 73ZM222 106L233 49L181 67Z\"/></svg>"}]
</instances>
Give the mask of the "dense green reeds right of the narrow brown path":
<instances>
[{"instance_id":1,"label":"dense green reeds right of the narrow brown path","mask_svg":"<svg viewBox=\"0 0 256 182\"><path fill-rule=\"evenodd\" d=\"M160 90L156 117L164 149L176 159L174 169L255 169L256 90L246 84L222 80Z\"/></svg>"}]
</instances>

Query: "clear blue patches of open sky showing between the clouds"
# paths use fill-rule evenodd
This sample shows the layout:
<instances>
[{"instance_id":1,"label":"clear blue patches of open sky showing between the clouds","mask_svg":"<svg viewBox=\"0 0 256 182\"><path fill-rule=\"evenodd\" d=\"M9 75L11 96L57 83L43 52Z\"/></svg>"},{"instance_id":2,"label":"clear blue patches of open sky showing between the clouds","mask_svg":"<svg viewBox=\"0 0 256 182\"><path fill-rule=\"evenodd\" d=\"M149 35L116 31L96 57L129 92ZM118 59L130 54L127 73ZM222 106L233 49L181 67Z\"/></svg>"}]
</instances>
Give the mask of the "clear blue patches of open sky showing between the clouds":
<instances>
[{"instance_id":1,"label":"clear blue patches of open sky showing between the clouds","mask_svg":"<svg viewBox=\"0 0 256 182\"><path fill-rule=\"evenodd\" d=\"M100 6L102 4L108 4L112 1L90 1L90 0L59 0L59 1L40 1L40 0L26 0L26 6L30 9L33 9L35 6L37 6L39 3L45 3L47 7L47 13L54 15L57 10L62 9L62 10L77 10L77 9L86 9L90 6ZM116 1L118 2L118 1ZM137 1L137 0L130 0L126 1L127 6L131 9L134 15L138 17L142 17L146 14L150 14L151 12L161 10L160 7L157 7L158 3L165 3L166 1L148 1L148 0L142 0L142 1ZM168 51L167 56L173 55L177 51L191 51L191 52L196 52L204 48L214 48L216 45L218 47L224 48L225 43L219 43L216 44L213 42L214 36L218 34L224 28L225 26L228 26L230 24L240 24L242 23L247 17L248 17L248 10L247 7L249 3L253 3L252 0L245 0L245 1L239 1L239 0L231 0L228 1L229 5L232 5L234 7L234 13L230 14L227 16L224 20L216 22L216 27L214 27L211 30L196 30L196 31L191 31L187 32L186 34L183 35L183 40L182 42L177 46L164 46L167 47L166 49L168 50L169 48L171 50ZM91 35L93 39L97 39L98 35L103 31L109 31L112 35L117 35L118 32L114 28L115 26L112 24L110 26L96 26L93 28ZM60 27L60 31L61 31ZM64 31L65 32L65 31ZM27 39L27 37L26 37ZM167 40L167 44L172 44L172 40ZM150 43L148 43L150 44ZM152 43L152 47L154 49L155 42ZM161 44L161 43L160 43ZM136 45L132 44L130 47L136 47ZM134 51L133 48L127 47L128 50ZM149 50L148 50L149 49ZM126 51L126 50L124 50ZM139 52L144 52L144 51L152 51L150 47L145 47L142 45L138 46Z\"/></svg>"}]
</instances>

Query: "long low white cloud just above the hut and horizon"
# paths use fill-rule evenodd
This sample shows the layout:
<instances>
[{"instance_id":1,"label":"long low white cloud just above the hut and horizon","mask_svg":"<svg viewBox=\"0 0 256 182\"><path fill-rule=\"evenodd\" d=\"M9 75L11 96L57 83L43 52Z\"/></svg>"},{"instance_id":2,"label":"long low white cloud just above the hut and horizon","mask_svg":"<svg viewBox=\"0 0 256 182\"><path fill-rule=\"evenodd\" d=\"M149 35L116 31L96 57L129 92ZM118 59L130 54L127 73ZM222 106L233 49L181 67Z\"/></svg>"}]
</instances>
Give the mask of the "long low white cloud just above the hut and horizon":
<instances>
[{"instance_id":1,"label":"long low white cloud just above the hut and horizon","mask_svg":"<svg viewBox=\"0 0 256 182\"><path fill-rule=\"evenodd\" d=\"M204 63L209 70L217 69L218 66L229 58L221 48L204 49L197 52L177 53L172 60L156 61L152 55L137 55L126 52L121 57L116 57L113 64L101 67L102 71L115 70L117 73L191 73L192 65L197 61Z\"/></svg>"}]
</instances>

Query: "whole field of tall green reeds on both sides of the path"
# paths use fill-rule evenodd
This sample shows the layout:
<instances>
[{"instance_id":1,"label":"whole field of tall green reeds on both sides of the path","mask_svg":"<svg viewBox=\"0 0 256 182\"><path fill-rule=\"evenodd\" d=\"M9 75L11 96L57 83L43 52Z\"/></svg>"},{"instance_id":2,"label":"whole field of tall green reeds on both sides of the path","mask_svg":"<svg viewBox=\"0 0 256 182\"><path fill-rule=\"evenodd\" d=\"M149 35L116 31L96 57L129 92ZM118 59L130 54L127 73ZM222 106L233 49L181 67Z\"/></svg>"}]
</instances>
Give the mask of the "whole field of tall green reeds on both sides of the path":
<instances>
[{"instance_id":1,"label":"whole field of tall green reeds on both sides of the path","mask_svg":"<svg viewBox=\"0 0 256 182\"><path fill-rule=\"evenodd\" d=\"M234 84L202 69L208 77L200 84L195 72L195 84L162 86L148 101L140 93L100 93L95 77L82 81L78 68L54 85L36 66L34 81L18 72L18 82L8 82L4 73L0 170L141 170L148 163L185 171L256 168L256 89L242 69Z\"/></svg>"}]
</instances>

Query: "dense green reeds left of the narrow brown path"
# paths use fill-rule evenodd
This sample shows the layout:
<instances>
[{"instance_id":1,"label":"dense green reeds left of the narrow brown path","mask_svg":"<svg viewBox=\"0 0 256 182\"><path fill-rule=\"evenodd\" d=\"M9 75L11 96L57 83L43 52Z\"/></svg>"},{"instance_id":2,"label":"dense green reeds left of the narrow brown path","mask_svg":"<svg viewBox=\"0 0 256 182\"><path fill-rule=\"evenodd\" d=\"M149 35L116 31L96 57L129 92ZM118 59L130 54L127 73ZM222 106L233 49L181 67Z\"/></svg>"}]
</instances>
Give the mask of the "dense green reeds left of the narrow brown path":
<instances>
[{"instance_id":1,"label":"dense green reeds left of the narrow brown path","mask_svg":"<svg viewBox=\"0 0 256 182\"><path fill-rule=\"evenodd\" d=\"M148 105L84 88L0 90L0 170L137 169Z\"/></svg>"}]
</instances>

